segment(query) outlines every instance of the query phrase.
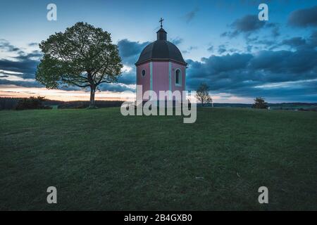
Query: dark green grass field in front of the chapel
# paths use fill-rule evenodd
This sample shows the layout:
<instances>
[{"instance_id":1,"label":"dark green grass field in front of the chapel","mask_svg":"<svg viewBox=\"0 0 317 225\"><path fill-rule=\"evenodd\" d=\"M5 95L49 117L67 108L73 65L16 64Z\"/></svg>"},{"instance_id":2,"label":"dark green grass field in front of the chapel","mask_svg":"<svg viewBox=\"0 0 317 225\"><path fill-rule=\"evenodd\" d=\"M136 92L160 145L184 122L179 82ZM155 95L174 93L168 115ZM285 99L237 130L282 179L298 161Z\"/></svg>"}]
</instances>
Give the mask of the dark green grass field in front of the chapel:
<instances>
[{"instance_id":1,"label":"dark green grass field in front of the chapel","mask_svg":"<svg viewBox=\"0 0 317 225\"><path fill-rule=\"evenodd\" d=\"M1 111L0 154L0 210L317 210L313 112Z\"/></svg>"}]
</instances>

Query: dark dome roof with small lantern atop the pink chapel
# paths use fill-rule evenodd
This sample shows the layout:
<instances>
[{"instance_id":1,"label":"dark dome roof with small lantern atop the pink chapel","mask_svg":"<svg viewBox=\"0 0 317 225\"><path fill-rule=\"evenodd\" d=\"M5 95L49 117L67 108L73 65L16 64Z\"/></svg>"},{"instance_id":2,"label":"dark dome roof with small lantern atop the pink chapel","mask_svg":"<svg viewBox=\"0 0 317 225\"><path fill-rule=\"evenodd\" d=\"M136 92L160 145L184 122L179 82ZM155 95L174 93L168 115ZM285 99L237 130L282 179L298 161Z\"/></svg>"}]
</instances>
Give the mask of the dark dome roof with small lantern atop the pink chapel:
<instances>
[{"instance_id":1,"label":"dark dome roof with small lantern atop the pink chapel","mask_svg":"<svg viewBox=\"0 0 317 225\"><path fill-rule=\"evenodd\" d=\"M147 60L174 60L178 63L187 64L182 58L182 53L175 44L166 40L166 31L161 28L157 32L158 39L147 45L139 56L135 65L146 62Z\"/></svg>"}]
</instances>

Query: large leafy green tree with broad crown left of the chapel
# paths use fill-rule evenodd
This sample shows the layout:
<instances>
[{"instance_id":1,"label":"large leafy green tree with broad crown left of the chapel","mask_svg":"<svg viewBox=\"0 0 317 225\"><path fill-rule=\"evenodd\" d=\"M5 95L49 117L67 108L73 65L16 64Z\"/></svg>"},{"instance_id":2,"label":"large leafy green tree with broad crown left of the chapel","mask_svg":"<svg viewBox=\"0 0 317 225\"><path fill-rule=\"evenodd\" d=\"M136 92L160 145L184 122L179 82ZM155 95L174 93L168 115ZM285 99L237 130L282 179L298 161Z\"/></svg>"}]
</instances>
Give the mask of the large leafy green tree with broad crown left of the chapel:
<instances>
[{"instance_id":1,"label":"large leafy green tree with broad crown left of the chapel","mask_svg":"<svg viewBox=\"0 0 317 225\"><path fill-rule=\"evenodd\" d=\"M76 23L39 44L44 56L36 79L48 89L74 85L90 88L90 105L99 84L117 82L123 65L118 46L101 28Z\"/></svg>"}]
</instances>

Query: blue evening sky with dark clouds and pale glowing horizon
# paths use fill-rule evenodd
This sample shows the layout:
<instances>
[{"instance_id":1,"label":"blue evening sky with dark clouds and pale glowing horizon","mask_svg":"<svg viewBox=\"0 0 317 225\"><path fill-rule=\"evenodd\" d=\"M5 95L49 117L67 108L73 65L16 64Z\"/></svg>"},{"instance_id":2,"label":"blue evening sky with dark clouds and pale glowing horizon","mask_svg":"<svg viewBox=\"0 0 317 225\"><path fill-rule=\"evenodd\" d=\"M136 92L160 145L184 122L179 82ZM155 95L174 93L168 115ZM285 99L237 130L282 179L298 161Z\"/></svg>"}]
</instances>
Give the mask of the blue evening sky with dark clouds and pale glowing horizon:
<instances>
[{"instance_id":1,"label":"blue evening sky with dark clouds and pale glowing horizon","mask_svg":"<svg viewBox=\"0 0 317 225\"><path fill-rule=\"evenodd\" d=\"M57 20L46 19L56 4ZM258 18L268 5L268 21ZM188 63L187 90L205 82L216 103L317 102L316 0L101 1L1 0L0 96L88 100L78 87L48 90L35 81L38 44L55 32L86 22L111 33L123 60L116 84L103 84L98 100L135 90L135 65L156 40L159 19Z\"/></svg>"}]
</instances>

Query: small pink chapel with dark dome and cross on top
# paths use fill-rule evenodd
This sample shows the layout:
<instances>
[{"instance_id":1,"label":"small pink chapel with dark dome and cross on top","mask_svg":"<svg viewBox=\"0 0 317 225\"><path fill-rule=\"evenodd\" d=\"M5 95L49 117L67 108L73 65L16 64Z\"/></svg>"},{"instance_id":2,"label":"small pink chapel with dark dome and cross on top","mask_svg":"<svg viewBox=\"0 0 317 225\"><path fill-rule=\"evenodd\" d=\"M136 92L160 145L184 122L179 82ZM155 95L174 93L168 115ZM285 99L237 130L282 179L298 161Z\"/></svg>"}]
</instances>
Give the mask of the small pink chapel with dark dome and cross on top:
<instances>
[{"instance_id":1,"label":"small pink chapel with dark dome and cross on top","mask_svg":"<svg viewBox=\"0 0 317 225\"><path fill-rule=\"evenodd\" d=\"M186 88L187 63L178 47L167 40L163 19L160 22L161 29L156 32L156 41L143 49L135 63L137 85L142 85L142 96L145 91L154 91L159 96L159 91L185 91ZM149 100L145 99L146 96L142 98L143 101Z\"/></svg>"}]
</instances>

